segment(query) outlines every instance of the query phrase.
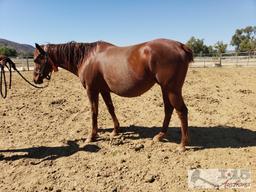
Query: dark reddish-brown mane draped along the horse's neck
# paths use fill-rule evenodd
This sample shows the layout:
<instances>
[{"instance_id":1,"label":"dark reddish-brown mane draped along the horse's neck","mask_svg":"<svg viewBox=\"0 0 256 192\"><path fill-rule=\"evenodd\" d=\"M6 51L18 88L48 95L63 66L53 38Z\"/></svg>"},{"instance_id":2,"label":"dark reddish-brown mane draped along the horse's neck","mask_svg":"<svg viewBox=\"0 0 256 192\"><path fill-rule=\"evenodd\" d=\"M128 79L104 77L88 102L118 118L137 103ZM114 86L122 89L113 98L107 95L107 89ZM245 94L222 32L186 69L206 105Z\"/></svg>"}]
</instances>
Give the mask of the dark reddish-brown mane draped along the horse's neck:
<instances>
[{"instance_id":1,"label":"dark reddish-brown mane draped along the horse's neck","mask_svg":"<svg viewBox=\"0 0 256 192\"><path fill-rule=\"evenodd\" d=\"M62 65L67 65L68 69L76 70L76 66L87 58L92 49L103 43L105 42L77 43L71 41L63 44L47 44L45 46L47 46L47 52L51 54L51 59Z\"/></svg>"}]
</instances>

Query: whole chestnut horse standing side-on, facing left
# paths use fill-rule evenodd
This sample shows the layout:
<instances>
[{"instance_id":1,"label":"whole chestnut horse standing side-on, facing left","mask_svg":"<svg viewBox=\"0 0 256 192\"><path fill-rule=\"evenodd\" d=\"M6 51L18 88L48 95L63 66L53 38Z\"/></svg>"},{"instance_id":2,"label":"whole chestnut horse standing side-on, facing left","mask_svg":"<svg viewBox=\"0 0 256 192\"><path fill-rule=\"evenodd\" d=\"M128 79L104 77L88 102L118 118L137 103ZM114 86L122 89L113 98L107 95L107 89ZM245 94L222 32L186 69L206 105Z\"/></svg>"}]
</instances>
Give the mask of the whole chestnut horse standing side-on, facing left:
<instances>
[{"instance_id":1,"label":"whole chestnut horse standing side-on, facing left","mask_svg":"<svg viewBox=\"0 0 256 192\"><path fill-rule=\"evenodd\" d=\"M110 93L137 97L157 83L162 91L165 116L160 132L153 137L153 141L161 141L166 136L175 109L181 122L179 148L185 150L189 142L188 109L182 97L182 86L189 63L193 61L192 50L186 45L169 39L155 39L126 47L104 41L36 43L35 47L33 80L36 84L43 83L60 67L76 75L86 89L92 118L92 129L86 142L98 137L99 95L103 97L114 123L110 134L110 138L113 138L120 132L120 125Z\"/></svg>"}]
</instances>

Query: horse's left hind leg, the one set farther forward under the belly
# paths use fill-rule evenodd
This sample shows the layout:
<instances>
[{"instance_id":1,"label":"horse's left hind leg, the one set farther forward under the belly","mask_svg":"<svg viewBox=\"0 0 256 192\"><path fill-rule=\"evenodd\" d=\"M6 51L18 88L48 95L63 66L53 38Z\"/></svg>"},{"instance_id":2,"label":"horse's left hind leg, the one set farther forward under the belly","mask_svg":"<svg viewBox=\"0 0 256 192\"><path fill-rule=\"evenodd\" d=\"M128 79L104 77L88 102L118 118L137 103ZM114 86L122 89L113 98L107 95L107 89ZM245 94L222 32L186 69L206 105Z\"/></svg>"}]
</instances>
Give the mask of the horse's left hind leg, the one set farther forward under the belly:
<instances>
[{"instance_id":1,"label":"horse's left hind leg, the one set farther forward under the belly","mask_svg":"<svg viewBox=\"0 0 256 192\"><path fill-rule=\"evenodd\" d=\"M168 90L165 89L163 86L161 87L162 90L162 96L163 96L163 102L164 102L164 121L163 126L161 128L161 131L153 138L153 141L161 141L165 136L166 132L171 120L172 112L173 112L173 106L171 105L168 97Z\"/></svg>"}]
</instances>

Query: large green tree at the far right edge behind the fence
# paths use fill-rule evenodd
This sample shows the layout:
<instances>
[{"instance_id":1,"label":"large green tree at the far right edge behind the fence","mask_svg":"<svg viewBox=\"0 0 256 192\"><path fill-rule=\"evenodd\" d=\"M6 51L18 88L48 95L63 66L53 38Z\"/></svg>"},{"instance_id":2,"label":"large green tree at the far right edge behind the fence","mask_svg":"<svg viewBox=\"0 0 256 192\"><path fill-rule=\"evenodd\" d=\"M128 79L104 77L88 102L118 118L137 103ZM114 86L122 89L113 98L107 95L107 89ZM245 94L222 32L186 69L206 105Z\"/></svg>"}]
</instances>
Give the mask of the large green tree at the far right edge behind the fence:
<instances>
[{"instance_id":1,"label":"large green tree at the far right edge behind the fence","mask_svg":"<svg viewBox=\"0 0 256 192\"><path fill-rule=\"evenodd\" d=\"M237 29L232 36L231 45L236 51L250 51L256 49L256 26Z\"/></svg>"}]
</instances>

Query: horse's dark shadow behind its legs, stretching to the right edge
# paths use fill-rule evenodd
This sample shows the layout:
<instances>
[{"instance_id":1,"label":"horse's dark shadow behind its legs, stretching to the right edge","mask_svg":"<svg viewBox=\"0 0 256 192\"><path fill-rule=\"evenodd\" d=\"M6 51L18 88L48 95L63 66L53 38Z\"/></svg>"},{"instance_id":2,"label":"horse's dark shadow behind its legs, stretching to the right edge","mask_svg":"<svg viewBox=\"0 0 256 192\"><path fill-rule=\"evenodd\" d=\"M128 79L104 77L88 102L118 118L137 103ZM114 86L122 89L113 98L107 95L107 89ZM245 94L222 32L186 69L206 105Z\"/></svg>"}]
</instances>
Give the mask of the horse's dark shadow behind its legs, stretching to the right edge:
<instances>
[{"instance_id":1,"label":"horse's dark shadow behind its legs, stretching to the right edge","mask_svg":"<svg viewBox=\"0 0 256 192\"><path fill-rule=\"evenodd\" d=\"M161 127L129 126L121 128L126 139L153 138ZM112 129L103 129L110 132ZM207 148L240 148L256 146L256 131L230 126L189 127L190 146ZM166 142L180 143L180 127L168 128Z\"/></svg>"}]
</instances>

